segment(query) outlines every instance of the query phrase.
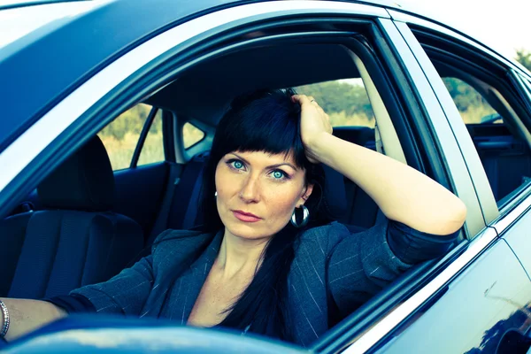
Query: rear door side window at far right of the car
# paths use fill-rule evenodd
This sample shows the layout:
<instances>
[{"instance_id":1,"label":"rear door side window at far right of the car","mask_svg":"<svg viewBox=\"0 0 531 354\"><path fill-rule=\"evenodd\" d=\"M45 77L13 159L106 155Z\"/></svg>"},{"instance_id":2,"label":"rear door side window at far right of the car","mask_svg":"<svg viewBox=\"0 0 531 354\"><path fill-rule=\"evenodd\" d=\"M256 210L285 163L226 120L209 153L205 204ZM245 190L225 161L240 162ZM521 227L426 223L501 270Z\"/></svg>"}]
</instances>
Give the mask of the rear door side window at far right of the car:
<instances>
[{"instance_id":1,"label":"rear door side window at far right of the car","mask_svg":"<svg viewBox=\"0 0 531 354\"><path fill-rule=\"evenodd\" d=\"M531 117L509 68L469 49L417 33L466 124L501 208L531 179Z\"/></svg>"}]
</instances>

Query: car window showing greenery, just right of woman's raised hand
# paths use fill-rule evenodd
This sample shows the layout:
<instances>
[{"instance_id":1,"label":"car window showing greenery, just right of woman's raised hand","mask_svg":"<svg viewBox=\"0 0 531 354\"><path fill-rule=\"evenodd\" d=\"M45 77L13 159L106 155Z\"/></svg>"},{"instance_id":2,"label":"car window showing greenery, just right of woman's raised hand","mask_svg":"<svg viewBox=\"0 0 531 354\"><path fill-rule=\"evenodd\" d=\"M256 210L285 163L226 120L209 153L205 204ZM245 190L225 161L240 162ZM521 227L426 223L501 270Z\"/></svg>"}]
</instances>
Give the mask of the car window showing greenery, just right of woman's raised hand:
<instances>
[{"instance_id":1,"label":"car window showing greenery, just right of woman's raised hand","mask_svg":"<svg viewBox=\"0 0 531 354\"><path fill-rule=\"evenodd\" d=\"M374 113L361 79L325 81L296 88L313 96L330 116L332 127L374 127Z\"/></svg>"}]
</instances>

